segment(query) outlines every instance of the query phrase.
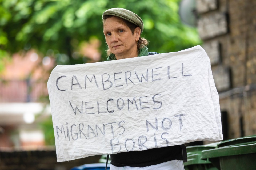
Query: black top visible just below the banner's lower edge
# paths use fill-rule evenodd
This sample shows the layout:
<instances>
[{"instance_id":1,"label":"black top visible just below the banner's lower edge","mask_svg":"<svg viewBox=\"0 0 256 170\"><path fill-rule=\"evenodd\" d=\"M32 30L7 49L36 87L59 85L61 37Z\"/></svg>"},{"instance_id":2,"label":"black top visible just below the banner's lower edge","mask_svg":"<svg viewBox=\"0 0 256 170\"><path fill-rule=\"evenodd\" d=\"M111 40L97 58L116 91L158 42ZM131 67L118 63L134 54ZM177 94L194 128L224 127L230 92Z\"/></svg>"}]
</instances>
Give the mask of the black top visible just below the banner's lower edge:
<instances>
[{"instance_id":1,"label":"black top visible just below the banner's lower edge","mask_svg":"<svg viewBox=\"0 0 256 170\"><path fill-rule=\"evenodd\" d=\"M110 154L110 158L111 164L116 167L146 167L175 159L183 160L180 145Z\"/></svg>"}]
</instances>

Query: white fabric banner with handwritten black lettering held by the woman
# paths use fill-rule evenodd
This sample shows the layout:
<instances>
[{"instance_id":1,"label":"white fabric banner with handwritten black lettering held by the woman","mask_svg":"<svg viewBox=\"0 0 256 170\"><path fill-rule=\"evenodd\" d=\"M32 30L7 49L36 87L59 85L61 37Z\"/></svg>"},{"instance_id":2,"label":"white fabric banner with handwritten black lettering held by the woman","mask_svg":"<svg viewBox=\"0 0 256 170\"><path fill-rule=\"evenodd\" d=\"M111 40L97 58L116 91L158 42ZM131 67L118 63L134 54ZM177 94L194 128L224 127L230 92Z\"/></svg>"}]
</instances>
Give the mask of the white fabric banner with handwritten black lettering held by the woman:
<instances>
[{"instance_id":1,"label":"white fabric banner with handwritten black lettering held by the woman","mask_svg":"<svg viewBox=\"0 0 256 170\"><path fill-rule=\"evenodd\" d=\"M201 46L58 65L47 82L57 161L222 140L219 96Z\"/></svg>"}]
</instances>

